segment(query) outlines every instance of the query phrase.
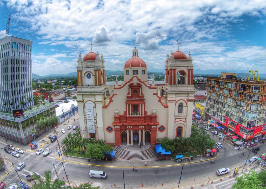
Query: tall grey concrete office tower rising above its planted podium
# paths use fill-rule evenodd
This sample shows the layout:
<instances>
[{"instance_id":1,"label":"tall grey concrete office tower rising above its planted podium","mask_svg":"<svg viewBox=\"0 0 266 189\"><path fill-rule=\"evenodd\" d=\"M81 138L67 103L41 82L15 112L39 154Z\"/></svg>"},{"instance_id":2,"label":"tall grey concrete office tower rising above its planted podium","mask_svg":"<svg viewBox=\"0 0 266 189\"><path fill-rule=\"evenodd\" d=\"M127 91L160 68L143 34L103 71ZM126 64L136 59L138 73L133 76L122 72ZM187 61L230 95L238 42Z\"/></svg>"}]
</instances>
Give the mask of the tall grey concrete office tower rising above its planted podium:
<instances>
[{"instance_id":1,"label":"tall grey concrete office tower rising above its planted podium","mask_svg":"<svg viewBox=\"0 0 266 189\"><path fill-rule=\"evenodd\" d=\"M0 39L0 111L33 105L31 46L32 41L13 36Z\"/></svg>"}]
</instances>

